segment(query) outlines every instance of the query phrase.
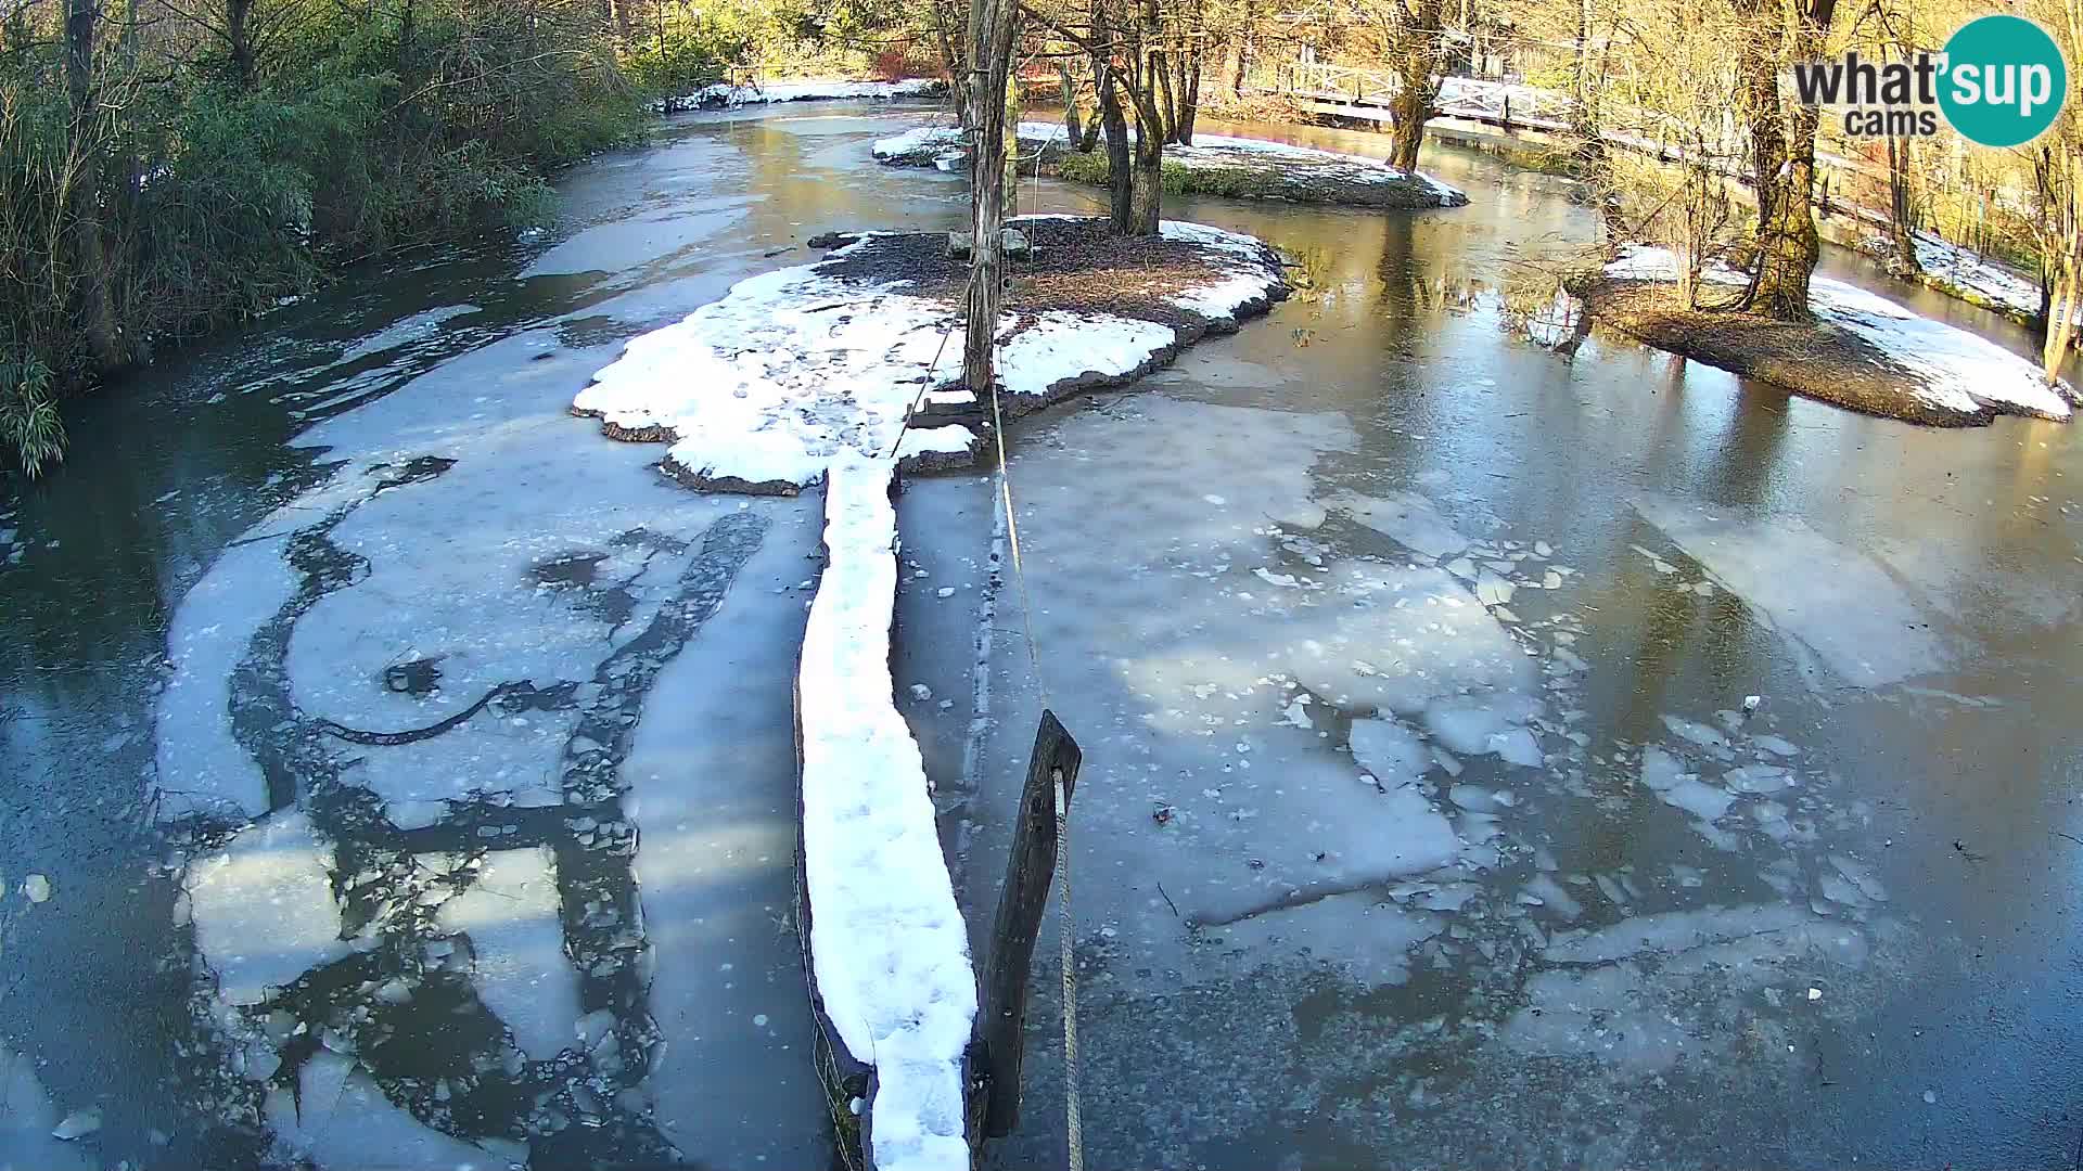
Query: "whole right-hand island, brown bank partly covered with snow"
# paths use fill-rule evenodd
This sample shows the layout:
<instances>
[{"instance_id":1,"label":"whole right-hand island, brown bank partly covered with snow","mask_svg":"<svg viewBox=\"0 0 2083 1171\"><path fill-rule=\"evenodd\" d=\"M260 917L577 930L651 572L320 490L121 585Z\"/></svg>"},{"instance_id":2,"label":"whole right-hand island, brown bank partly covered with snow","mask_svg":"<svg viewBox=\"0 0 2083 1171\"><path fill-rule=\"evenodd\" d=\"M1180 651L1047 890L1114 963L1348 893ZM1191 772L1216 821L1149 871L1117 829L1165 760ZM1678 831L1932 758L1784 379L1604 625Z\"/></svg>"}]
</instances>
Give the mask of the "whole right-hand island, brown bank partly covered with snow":
<instances>
[{"instance_id":1,"label":"whole right-hand island, brown bank partly covered with snow","mask_svg":"<svg viewBox=\"0 0 2083 1171\"><path fill-rule=\"evenodd\" d=\"M1833 402L1933 427L1981 427L1998 415L2068 421L2075 388L2048 385L2027 358L1846 281L1808 283L1812 323L1681 308L1666 248L1631 248L1598 275L1573 281L1585 310L1652 346L1710 367ZM1727 267L1702 271L1714 288L1746 283Z\"/></svg>"}]
</instances>

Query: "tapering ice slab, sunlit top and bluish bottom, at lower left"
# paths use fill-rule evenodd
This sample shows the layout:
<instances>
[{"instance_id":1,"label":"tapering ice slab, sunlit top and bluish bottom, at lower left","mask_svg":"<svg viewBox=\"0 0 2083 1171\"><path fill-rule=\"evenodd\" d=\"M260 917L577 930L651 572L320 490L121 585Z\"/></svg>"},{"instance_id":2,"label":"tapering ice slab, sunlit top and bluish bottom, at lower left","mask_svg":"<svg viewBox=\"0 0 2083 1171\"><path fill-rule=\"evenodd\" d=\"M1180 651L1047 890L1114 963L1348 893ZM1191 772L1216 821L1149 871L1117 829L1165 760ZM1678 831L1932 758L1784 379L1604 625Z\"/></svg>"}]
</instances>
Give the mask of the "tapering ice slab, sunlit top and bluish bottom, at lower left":
<instances>
[{"instance_id":1,"label":"tapering ice slab, sunlit top and bluish bottom, at lower left","mask_svg":"<svg viewBox=\"0 0 2083 1171\"><path fill-rule=\"evenodd\" d=\"M548 848L494 850L477 881L435 913L442 931L471 936L471 983L535 1061L571 1044L579 973L564 956L556 863Z\"/></svg>"}]
</instances>

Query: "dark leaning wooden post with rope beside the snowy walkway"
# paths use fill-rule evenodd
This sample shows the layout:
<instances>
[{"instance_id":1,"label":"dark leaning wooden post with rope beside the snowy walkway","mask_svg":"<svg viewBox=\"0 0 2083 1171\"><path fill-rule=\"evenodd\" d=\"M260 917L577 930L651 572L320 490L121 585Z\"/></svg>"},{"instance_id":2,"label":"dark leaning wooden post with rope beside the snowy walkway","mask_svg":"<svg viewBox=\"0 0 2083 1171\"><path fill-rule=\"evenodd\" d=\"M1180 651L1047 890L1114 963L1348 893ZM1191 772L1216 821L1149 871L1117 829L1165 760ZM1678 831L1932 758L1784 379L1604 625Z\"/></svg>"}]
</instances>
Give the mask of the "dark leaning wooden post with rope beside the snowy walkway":
<instances>
[{"instance_id":1,"label":"dark leaning wooden post with rope beside the snowy walkway","mask_svg":"<svg viewBox=\"0 0 2083 1171\"><path fill-rule=\"evenodd\" d=\"M1056 713L1042 711L1035 754L1027 761L1012 852L1006 856L1006 886L998 892L989 954L977 992L977 1042L983 1073L983 1133L1012 1133L1021 1117L1021 1063L1027 1056L1027 977L1033 969L1035 936L1056 881L1056 786L1062 786L1064 815L1077 788L1083 754ZM975 1083L975 1079L973 1079ZM973 1111L975 1117L975 1111ZM975 1144L977 1138L971 1138Z\"/></svg>"}]
</instances>

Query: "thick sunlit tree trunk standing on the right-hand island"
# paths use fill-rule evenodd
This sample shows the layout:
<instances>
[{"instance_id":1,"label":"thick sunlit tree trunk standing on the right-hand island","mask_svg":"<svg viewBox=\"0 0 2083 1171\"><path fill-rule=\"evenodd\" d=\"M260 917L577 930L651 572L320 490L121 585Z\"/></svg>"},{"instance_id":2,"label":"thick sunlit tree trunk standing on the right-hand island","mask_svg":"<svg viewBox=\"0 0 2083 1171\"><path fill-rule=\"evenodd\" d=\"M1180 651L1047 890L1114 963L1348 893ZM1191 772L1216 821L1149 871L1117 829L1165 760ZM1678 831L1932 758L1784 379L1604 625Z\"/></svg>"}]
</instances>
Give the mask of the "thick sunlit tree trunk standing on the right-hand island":
<instances>
[{"instance_id":1,"label":"thick sunlit tree trunk standing on the right-hand island","mask_svg":"<svg viewBox=\"0 0 2083 1171\"><path fill-rule=\"evenodd\" d=\"M1781 4L1737 0L1737 13L1752 21L1737 69L1758 196L1758 254L1746 304L1775 321L1808 321L1808 277L1823 256L1812 208L1821 108L1781 104L1779 46L1789 60L1821 60L1835 6L1837 0L1793 0L1783 17L1791 23L1783 38Z\"/></svg>"}]
</instances>

